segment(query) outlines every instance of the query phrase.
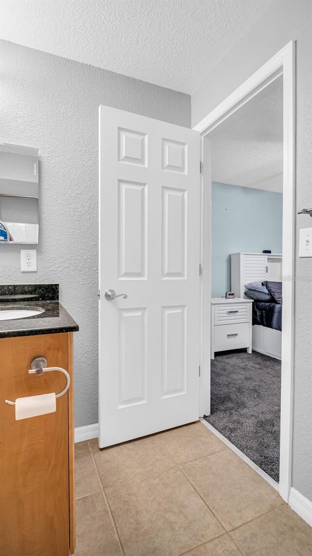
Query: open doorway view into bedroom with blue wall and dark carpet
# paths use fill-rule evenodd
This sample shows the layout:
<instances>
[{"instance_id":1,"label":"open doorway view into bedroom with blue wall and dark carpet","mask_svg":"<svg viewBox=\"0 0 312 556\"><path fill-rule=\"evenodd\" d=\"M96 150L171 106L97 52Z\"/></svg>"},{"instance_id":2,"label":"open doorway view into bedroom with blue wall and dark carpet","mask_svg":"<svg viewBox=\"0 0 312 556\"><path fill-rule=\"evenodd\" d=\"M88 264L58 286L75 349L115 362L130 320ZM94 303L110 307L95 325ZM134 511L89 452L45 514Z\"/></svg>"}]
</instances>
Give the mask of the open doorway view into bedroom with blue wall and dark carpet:
<instances>
[{"instance_id":1,"label":"open doorway view into bedroom with blue wall and dark carpet","mask_svg":"<svg viewBox=\"0 0 312 556\"><path fill-rule=\"evenodd\" d=\"M279 482L283 76L211 133L207 423Z\"/></svg>"}]
</instances>

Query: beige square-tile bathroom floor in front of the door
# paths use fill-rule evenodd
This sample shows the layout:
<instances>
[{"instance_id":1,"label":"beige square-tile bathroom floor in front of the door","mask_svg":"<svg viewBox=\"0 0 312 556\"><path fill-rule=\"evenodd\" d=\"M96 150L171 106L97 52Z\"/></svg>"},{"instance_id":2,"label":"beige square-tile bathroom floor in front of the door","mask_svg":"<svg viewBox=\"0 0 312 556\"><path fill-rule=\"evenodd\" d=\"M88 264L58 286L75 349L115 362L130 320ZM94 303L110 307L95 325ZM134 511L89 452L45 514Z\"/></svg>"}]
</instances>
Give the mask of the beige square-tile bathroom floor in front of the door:
<instances>
[{"instance_id":1,"label":"beige square-tile bathroom floor in front of the door","mask_svg":"<svg viewBox=\"0 0 312 556\"><path fill-rule=\"evenodd\" d=\"M202 423L76 444L75 556L311 556L312 528Z\"/></svg>"}]
</instances>

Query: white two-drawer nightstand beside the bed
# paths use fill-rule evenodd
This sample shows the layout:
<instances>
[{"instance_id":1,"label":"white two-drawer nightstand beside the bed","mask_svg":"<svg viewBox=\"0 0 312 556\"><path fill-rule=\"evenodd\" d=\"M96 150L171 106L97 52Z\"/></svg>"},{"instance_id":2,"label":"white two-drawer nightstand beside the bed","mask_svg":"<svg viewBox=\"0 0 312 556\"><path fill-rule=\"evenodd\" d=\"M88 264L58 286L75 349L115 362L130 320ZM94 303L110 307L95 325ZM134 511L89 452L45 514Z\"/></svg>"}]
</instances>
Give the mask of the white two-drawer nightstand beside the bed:
<instances>
[{"instance_id":1,"label":"white two-drawer nightstand beside the bed","mask_svg":"<svg viewBox=\"0 0 312 556\"><path fill-rule=\"evenodd\" d=\"M246 347L251 353L252 344L252 299L212 298L212 349L215 351L241 349Z\"/></svg>"}]
</instances>

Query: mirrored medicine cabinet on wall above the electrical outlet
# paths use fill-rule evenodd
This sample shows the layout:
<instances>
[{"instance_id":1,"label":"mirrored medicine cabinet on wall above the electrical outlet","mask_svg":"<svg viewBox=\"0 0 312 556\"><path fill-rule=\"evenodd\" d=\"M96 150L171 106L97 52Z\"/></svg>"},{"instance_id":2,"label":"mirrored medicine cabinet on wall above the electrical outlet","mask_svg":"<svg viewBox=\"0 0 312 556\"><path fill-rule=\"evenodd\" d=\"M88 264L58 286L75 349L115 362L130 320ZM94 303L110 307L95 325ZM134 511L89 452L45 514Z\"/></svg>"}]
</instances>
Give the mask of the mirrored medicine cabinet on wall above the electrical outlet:
<instances>
[{"instance_id":1,"label":"mirrored medicine cabinet on wall above the electrical outlet","mask_svg":"<svg viewBox=\"0 0 312 556\"><path fill-rule=\"evenodd\" d=\"M38 242L38 149L0 143L0 243Z\"/></svg>"}]
</instances>

